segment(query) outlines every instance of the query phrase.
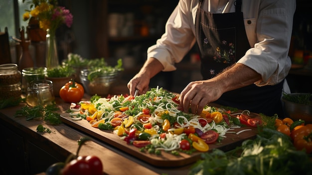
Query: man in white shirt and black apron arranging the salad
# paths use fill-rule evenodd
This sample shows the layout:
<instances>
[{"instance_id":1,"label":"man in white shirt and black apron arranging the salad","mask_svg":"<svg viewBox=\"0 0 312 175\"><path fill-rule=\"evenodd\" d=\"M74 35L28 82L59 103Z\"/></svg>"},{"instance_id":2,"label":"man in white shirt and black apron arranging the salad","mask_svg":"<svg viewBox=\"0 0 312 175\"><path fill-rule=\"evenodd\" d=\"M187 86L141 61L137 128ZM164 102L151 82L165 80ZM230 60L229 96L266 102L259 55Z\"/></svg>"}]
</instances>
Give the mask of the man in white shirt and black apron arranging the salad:
<instances>
[{"instance_id":1,"label":"man in white shirt and black apron arranging the salad","mask_svg":"<svg viewBox=\"0 0 312 175\"><path fill-rule=\"evenodd\" d=\"M295 9L295 0L180 0L165 33L129 81L130 94L145 93L158 72L175 70L174 63L197 42L203 80L180 93L185 112L200 114L215 102L283 117Z\"/></svg>"}]
</instances>

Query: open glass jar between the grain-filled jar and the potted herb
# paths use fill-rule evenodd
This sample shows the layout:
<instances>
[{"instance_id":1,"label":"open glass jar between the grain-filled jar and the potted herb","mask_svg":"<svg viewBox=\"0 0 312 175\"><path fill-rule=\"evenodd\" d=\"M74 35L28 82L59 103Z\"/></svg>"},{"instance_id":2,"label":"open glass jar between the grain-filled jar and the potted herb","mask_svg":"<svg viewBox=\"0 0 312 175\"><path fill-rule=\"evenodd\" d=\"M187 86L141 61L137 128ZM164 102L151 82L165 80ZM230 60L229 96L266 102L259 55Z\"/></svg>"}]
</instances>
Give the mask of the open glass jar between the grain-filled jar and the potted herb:
<instances>
[{"instance_id":1,"label":"open glass jar between the grain-filled jar and the potted herb","mask_svg":"<svg viewBox=\"0 0 312 175\"><path fill-rule=\"evenodd\" d=\"M46 67L28 67L24 68L22 74L22 92L26 93L31 81L43 80L47 74Z\"/></svg>"}]
</instances>

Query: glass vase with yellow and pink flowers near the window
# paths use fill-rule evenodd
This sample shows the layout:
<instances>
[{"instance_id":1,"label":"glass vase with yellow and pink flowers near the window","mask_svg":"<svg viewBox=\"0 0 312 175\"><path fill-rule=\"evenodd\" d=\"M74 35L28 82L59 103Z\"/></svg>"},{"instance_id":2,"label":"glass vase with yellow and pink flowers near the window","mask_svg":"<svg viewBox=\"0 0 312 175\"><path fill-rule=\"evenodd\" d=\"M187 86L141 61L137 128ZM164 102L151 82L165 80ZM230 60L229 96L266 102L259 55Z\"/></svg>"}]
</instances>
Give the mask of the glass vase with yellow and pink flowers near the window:
<instances>
[{"instance_id":1,"label":"glass vase with yellow and pink flowers near the window","mask_svg":"<svg viewBox=\"0 0 312 175\"><path fill-rule=\"evenodd\" d=\"M23 0L25 2L25 0ZM26 9L23 20L35 17L39 21L40 28L47 31L46 34L46 58L47 68L59 66L56 44L56 29L61 24L70 27L73 23L73 15L63 6L58 6L57 0L29 0L30 10Z\"/></svg>"}]
</instances>

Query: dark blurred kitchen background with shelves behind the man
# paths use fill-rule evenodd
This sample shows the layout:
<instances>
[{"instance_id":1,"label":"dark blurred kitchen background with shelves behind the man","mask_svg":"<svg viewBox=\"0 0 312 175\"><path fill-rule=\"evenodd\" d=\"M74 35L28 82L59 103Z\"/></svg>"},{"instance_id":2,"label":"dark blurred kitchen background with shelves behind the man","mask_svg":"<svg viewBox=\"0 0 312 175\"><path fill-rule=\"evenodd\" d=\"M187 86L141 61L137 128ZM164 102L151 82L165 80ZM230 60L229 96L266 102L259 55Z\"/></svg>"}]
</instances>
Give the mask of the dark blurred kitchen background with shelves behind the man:
<instances>
[{"instance_id":1,"label":"dark blurred kitchen background with shelves behind the man","mask_svg":"<svg viewBox=\"0 0 312 175\"><path fill-rule=\"evenodd\" d=\"M306 83L312 81L312 5L308 2L297 0L294 17L290 49L294 67L287 77L293 93L312 91L311 83ZM164 32L166 19L177 3L178 0L59 0L59 5L74 16L71 28L61 26L57 30L59 59L76 53L88 59L104 57L115 65L122 58L125 71L120 81L128 82L146 60L147 48ZM18 60L20 48L11 38L20 38L18 28L27 26L21 19L25 5L22 0L0 0L0 11L6 14L0 17L0 31L8 28L12 62ZM44 55L36 52L45 49L44 43L32 43L29 49L33 59ZM196 46L176 66L176 71L156 75L150 86L179 93L190 81L201 79Z\"/></svg>"}]
</instances>

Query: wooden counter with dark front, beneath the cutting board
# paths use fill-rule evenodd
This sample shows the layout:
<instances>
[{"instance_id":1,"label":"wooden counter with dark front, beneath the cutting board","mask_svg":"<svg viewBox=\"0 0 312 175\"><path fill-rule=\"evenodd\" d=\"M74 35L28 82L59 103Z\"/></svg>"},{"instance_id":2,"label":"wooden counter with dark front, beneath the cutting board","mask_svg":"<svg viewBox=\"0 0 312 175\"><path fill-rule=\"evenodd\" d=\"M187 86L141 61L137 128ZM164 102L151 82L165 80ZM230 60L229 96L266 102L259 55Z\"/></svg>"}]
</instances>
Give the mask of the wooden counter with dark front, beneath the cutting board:
<instances>
[{"instance_id":1,"label":"wooden counter with dark front, beneath the cutting board","mask_svg":"<svg viewBox=\"0 0 312 175\"><path fill-rule=\"evenodd\" d=\"M119 94L127 91L123 87L116 87L115 90L120 91ZM56 98L56 104L61 109L60 113L69 109L70 105L60 98ZM26 121L25 117L13 117L24 105L21 103L19 106L0 109L2 175L34 175L45 172L53 163L64 162L68 155L75 153L77 140L87 136L66 124L52 126L43 120ZM37 133L39 124L55 131L55 134ZM173 169L153 167L96 138L87 142L79 155L98 156L104 166L103 172L107 175L186 175L190 168L190 165Z\"/></svg>"}]
</instances>

